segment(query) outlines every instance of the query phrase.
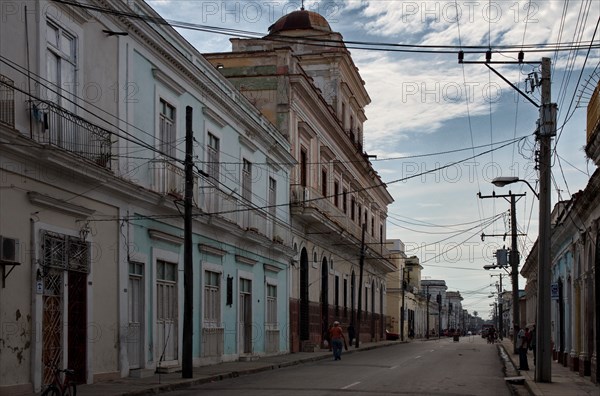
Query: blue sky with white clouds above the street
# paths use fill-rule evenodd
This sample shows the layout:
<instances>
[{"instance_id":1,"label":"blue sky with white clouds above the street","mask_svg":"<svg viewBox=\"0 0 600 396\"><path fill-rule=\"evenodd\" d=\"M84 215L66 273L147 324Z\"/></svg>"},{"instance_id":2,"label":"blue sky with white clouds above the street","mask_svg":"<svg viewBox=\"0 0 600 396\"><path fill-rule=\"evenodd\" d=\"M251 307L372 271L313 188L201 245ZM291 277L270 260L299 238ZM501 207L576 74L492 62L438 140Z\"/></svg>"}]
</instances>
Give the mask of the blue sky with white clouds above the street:
<instances>
[{"instance_id":1,"label":"blue sky with white clouds above the street","mask_svg":"<svg viewBox=\"0 0 600 396\"><path fill-rule=\"evenodd\" d=\"M266 35L301 1L147 0L169 21L226 27ZM538 202L524 183L494 188L497 176L518 176L536 188L538 110L483 63L458 63L465 46L491 48L492 61L516 61L523 48L534 64L492 67L522 91L542 57L552 60L552 102L558 105L553 140L552 203L585 188L595 165L584 147L586 106L600 78L600 50L588 50L600 20L597 0L323 0L305 1L346 41L448 46L446 52L398 52L351 48L371 104L365 109L365 150L387 183L388 239L417 256L424 279L443 279L460 291L463 308L488 318L501 270L486 271L493 252L510 245L509 201L483 196L525 193L516 205L520 267L538 231ZM200 52L231 51L231 36L178 29ZM578 43L578 51L540 51L542 44ZM390 47L387 47L390 48ZM396 47L399 48L399 47ZM423 47L421 48L423 49ZM468 52L468 50L465 50ZM484 61L484 54L465 54ZM529 96L539 103L539 89ZM522 139L520 139L522 138ZM482 241L481 234L486 236ZM494 236L498 235L498 236ZM495 275L495 276L491 276ZM504 276L505 290L511 290ZM525 287L520 278L519 288Z\"/></svg>"}]
</instances>

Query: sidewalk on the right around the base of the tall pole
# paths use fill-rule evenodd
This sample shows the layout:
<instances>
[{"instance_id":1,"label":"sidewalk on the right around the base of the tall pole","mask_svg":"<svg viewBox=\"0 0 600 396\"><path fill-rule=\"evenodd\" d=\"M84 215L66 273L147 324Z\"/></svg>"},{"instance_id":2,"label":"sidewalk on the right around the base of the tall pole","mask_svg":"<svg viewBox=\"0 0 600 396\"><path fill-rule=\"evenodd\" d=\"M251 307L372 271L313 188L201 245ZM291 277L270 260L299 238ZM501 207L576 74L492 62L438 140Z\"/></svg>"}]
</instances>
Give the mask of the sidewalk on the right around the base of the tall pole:
<instances>
[{"instance_id":1,"label":"sidewalk on the right around the base of the tall pole","mask_svg":"<svg viewBox=\"0 0 600 396\"><path fill-rule=\"evenodd\" d=\"M512 361L515 370L519 367L519 355L513 354L512 340L505 338L501 346L506 351L506 355ZM535 366L533 365L533 353L528 351L527 359L529 361L529 371L518 371L525 378L525 387L529 394L534 396L579 396L579 395L598 395L600 387L595 385L589 377L580 377L579 373L571 371L555 361L552 362L552 382L535 382Z\"/></svg>"}]
</instances>

